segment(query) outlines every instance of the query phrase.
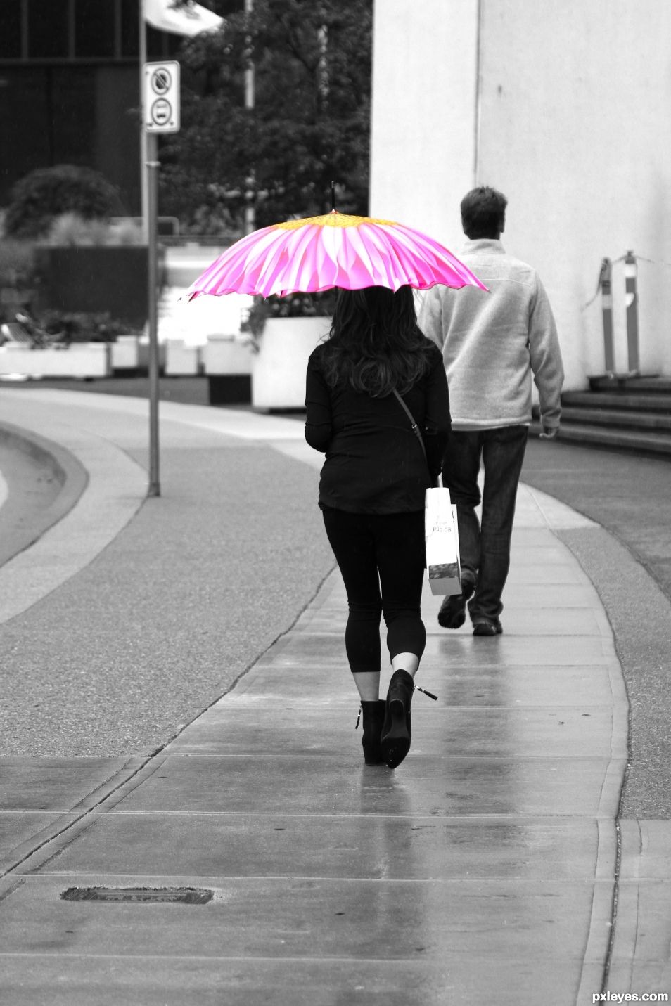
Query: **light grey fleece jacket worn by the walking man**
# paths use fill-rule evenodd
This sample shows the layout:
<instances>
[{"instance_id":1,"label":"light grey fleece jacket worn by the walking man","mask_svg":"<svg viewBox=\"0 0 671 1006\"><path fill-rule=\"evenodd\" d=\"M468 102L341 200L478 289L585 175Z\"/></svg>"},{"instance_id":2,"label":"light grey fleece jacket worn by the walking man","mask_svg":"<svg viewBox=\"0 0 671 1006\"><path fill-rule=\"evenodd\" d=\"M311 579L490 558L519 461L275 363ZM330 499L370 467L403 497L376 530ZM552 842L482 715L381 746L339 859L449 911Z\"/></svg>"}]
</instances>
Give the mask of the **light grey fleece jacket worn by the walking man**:
<instances>
[{"instance_id":1,"label":"light grey fleece jacket worn by the walking man","mask_svg":"<svg viewBox=\"0 0 671 1006\"><path fill-rule=\"evenodd\" d=\"M531 377L543 426L559 426L563 366L547 294L535 270L501 241L469 240L461 261L488 288L434 287L420 328L443 351L453 430L531 422Z\"/></svg>"}]
</instances>

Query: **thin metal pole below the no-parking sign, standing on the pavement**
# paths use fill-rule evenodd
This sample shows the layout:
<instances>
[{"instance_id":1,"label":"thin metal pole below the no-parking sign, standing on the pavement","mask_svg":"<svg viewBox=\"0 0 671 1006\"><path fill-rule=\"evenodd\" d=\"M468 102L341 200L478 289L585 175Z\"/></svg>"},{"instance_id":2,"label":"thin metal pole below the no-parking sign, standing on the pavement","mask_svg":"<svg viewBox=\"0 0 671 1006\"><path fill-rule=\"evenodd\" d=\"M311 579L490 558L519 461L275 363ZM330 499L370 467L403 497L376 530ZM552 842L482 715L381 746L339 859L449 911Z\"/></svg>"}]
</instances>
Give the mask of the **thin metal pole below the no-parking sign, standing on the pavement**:
<instances>
[{"instance_id":1,"label":"thin metal pole below the no-parking sign, standing on the pavement","mask_svg":"<svg viewBox=\"0 0 671 1006\"><path fill-rule=\"evenodd\" d=\"M149 496L161 495L159 478L159 358L158 358L158 140L155 133L147 133L147 217L148 243L148 300L149 300Z\"/></svg>"}]
</instances>

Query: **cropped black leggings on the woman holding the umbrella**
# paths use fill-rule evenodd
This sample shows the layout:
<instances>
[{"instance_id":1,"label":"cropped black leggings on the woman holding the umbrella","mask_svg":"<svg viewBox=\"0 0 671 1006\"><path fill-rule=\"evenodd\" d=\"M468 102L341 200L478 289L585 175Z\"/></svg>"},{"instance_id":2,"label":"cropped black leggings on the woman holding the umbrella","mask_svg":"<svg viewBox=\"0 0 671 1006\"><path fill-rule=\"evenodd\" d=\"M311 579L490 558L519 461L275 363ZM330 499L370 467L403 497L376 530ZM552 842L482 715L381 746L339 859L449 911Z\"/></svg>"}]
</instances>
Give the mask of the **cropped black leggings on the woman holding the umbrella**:
<instances>
[{"instance_id":1,"label":"cropped black leggings on the woman holding the umbrella","mask_svg":"<svg viewBox=\"0 0 671 1006\"><path fill-rule=\"evenodd\" d=\"M347 591L345 648L353 674L380 669L380 616L387 628L389 658L422 657L425 512L349 513L322 509L331 548Z\"/></svg>"}]
</instances>

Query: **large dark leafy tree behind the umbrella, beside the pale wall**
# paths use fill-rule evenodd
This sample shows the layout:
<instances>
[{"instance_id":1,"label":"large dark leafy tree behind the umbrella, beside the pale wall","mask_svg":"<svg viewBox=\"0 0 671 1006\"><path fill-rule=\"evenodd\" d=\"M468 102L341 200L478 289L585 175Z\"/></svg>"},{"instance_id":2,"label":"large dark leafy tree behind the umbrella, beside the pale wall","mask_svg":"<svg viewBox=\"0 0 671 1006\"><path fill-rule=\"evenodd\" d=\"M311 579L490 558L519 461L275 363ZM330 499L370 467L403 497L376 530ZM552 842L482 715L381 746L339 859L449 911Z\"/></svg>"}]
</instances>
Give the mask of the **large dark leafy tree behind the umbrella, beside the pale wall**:
<instances>
[{"instance_id":1,"label":"large dark leafy tree behind the umbrella, beside the pale wall","mask_svg":"<svg viewBox=\"0 0 671 1006\"><path fill-rule=\"evenodd\" d=\"M161 211L241 230L366 213L372 0L255 0L183 44L182 129L161 147ZM254 65L254 108L245 70Z\"/></svg>"}]
</instances>

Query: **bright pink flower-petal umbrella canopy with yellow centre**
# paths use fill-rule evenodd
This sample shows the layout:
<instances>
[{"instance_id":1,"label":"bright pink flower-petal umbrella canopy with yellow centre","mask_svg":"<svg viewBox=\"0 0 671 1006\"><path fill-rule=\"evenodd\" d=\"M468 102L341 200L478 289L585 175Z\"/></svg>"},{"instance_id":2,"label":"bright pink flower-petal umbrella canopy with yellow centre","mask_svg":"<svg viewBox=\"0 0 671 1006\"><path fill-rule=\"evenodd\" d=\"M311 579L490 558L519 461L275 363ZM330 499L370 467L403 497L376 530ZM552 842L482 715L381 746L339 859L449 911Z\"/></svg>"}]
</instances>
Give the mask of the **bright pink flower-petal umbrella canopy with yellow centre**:
<instances>
[{"instance_id":1,"label":"bright pink flower-petal umbrella canopy with yellow centre","mask_svg":"<svg viewBox=\"0 0 671 1006\"><path fill-rule=\"evenodd\" d=\"M487 288L443 244L393 220L323 216L286 220L255 230L216 259L189 287L201 294L286 297L341 287Z\"/></svg>"}]
</instances>

